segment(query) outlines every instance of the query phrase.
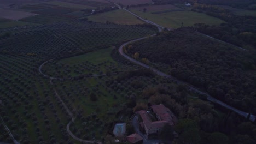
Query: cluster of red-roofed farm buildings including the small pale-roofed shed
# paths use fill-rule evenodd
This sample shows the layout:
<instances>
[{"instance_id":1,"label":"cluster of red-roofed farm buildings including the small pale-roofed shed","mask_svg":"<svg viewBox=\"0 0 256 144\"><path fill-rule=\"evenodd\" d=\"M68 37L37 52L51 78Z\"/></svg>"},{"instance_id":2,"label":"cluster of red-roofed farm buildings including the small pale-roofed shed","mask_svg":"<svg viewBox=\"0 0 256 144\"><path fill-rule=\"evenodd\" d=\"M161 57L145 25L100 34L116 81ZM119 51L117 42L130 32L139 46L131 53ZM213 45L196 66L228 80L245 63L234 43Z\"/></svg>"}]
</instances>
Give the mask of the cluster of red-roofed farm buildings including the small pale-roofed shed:
<instances>
[{"instance_id":1,"label":"cluster of red-roofed farm buildings including the small pale-roofed shed","mask_svg":"<svg viewBox=\"0 0 256 144\"><path fill-rule=\"evenodd\" d=\"M143 137L158 134L166 125L175 125L177 118L173 113L163 104L152 105L149 107L150 111L137 111L135 118L139 123L140 133L131 134L126 137L130 143L142 143ZM134 117L133 117L134 118ZM115 124L113 133L116 137L124 136L126 123Z\"/></svg>"}]
</instances>

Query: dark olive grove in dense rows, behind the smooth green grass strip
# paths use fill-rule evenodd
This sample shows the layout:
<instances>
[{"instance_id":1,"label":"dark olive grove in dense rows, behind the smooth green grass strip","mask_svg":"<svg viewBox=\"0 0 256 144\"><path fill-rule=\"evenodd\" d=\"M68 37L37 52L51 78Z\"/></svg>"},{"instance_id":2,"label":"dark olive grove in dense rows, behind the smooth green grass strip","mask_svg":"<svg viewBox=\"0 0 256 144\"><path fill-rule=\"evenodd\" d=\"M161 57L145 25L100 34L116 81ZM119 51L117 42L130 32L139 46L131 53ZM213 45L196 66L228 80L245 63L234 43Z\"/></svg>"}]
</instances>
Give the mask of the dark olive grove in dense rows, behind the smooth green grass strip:
<instances>
[{"instance_id":1,"label":"dark olive grove in dense rows, behind the smooth green grass strip","mask_svg":"<svg viewBox=\"0 0 256 144\"><path fill-rule=\"evenodd\" d=\"M150 26L104 25L101 23L76 21L55 23L48 26L31 28L29 32L20 32L1 41L2 47L8 46L8 52L26 55L64 55L75 51L92 51L95 47L113 45L123 40L153 34ZM10 33L13 33L10 31ZM11 41L16 40L16 43ZM26 49L24 49L26 47ZM0 49L0 51L2 51Z\"/></svg>"}]
</instances>

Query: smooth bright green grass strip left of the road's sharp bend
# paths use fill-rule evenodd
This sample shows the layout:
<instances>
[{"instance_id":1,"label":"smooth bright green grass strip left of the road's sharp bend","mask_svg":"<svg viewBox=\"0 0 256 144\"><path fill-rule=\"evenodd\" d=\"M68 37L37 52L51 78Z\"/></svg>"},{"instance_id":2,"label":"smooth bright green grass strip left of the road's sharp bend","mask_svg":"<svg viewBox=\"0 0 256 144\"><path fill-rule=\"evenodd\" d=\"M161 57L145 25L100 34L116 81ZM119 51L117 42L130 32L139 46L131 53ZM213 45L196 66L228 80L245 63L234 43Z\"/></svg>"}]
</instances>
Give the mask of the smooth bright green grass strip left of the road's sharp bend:
<instances>
[{"instance_id":1,"label":"smooth bright green grass strip left of the road's sharp bend","mask_svg":"<svg viewBox=\"0 0 256 144\"><path fill-rule=\"evenodd\" d=\"M113 47L101 49L98 51L86 53L84 55L61 59L61 61L59 62L65 64L79 64L85 61L88 61L92 64L98 64L104 61L114 62L112 57L110 56L112 50Z\"/></svg>"}]
</instances>

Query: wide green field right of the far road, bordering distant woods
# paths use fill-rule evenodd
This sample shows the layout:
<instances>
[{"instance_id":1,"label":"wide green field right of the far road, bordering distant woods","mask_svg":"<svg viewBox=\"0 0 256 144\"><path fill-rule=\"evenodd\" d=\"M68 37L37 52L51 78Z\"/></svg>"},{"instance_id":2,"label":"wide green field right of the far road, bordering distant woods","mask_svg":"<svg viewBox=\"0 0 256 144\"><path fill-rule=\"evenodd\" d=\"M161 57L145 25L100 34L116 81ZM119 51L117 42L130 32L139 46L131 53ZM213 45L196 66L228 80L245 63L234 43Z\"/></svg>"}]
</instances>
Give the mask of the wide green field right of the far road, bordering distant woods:
<instances>
[{"instance_id":1,"label":"wide green field right of the far road, bordering distant woods","mask_svg":"<svg viewBox=\"0 0 256 144\"><path fill-rule=\"evenodd\" d=\"M209 25L218 25L223 20L193 11L173 11L163 14L151 14L131 9L131 11L144 19L158 23L166 28L179 28L182 26L193 26L194 23L207 23Z\"/></svg>"}]
</instances>

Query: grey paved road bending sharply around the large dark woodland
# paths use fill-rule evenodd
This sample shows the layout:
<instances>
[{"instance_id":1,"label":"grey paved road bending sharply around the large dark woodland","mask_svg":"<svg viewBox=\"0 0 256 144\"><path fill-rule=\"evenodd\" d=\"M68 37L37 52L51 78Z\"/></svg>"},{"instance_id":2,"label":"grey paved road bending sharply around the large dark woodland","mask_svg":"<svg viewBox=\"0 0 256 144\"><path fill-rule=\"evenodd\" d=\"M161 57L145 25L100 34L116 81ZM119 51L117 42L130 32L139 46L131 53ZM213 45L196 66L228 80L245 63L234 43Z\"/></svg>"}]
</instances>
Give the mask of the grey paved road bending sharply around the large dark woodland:
<instances>
[{"instance_id":1,"label":"grey paved road bending sharply around the large dark woodland","mask_svg":"<svg viewBox=\"0 0 256 144\"><path fill-rule=\"evenodd\" d=\"M154 35L155 35L155 34L154 34ZM154 36L154 35L152 35L152 36ZM129 59L129 61L132 61L133 63L136 63L136 64L138 64L138 65L141 65L141 66L144 67L144 68L151 69L151 70L153 70L156 74L158 74L158 75L160 75L160 76L164 76L164 77L166 77L166 78L168 78L168 79L172 79L173 81L175 81L175 82L177 82L177 83L185 83L185 84L187 84L187 85L189 86L189 89L190 89L191 91L195 91L195 92L197 92L197 93L207 95L207 99L210 100L210 101L212 101L213 103L217 103L217 104L219 104L219 105L222 105L222 106L226 107L227 109L230 109L230 110L232 110L232 111L238 113L238 114L241 115L241 116L244 116L244 117L247 117L247 116L248 116L248 113L243 112L243 111L240 111L240 110L237 110L235 107L229 106L229 105L223 103L222 101L217 100L216 98L211 97L211 95L207 94L206 92L201 91L199 88L196 88L196 87L194 87L194 86L191 86L191 85L190 85L189 83L187 83L187 82L183 82L183 81L181 81L181 80L178 80L178 79L176 79L175 77L173 77L173 76L171 76L171 75L167 75L167 74L165 74L165 73L162 73L162 71L160 71L160 70L158 70L158 69L155 69L155 68L153 68L153 67L150 67L149 65L144 64L144 63L142 63L142 62L139 62L139 61L137 61L136 59L133 59L133 58L131 58L130 56L128 56L128 55L126 55L126 54L124 53L123 47L124 47L125 45L128 45L128 44L130 44L130 43L133 43L133 42L135 42L135 41L139 41L139 40L142 40L142 39L146 39L146 38L147 38L147 37L143 37L143 38L131 40L131 41L128 41L128 42L124 43L123 45L121 45L121 46L119 47L119 50L118 50L119 53L120 53L122 56L124 56L126 59ZM255 121L255 119L256 119L256 116L251 115L250 120L251 120L251 121Z\"/></svg>"}]
</instances>

